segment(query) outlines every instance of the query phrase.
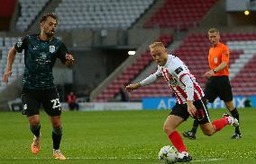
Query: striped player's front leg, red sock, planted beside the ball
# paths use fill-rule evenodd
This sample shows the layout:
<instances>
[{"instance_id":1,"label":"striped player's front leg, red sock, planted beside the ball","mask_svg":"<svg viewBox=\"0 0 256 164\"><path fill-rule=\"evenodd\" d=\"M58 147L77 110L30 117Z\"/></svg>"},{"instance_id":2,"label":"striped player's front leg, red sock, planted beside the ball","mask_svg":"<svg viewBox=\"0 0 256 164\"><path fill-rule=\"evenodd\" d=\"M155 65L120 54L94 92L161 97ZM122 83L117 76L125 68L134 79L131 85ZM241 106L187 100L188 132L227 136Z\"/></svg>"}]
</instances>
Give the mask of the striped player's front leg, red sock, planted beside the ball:
<instances>
[{"instance_id":1,"label":"striped player's front leg, red sock, planted beside the ball","mask_svg":"<svg viewBox=\"0 0 256 164\"><path fill-rule=\"evenodd\" d=\"M192 160L192 157L188 154L186 146L184 145L181 136L178 134L176 128L183 122L183 118L169 115L164 124L164 132L168 134L169 141L178 150L178 162L187 162Z\"/></svg>"}]
</instances>

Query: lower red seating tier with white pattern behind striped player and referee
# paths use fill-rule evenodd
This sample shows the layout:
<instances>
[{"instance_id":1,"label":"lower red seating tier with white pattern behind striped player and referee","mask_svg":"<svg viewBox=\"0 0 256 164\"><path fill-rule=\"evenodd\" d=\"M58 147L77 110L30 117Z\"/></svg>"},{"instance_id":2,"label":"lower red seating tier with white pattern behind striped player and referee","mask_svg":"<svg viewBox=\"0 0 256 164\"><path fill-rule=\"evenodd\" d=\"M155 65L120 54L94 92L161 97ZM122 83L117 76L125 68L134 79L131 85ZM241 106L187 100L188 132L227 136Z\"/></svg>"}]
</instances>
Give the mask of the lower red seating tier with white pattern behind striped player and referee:
<instances>
[{"instance_id":1,"label":"lower red seating tier with white pattern behind striped player and referee","mask_svg":"<svg viewBox=\"0 0 256 164\"><path fill-rule=\"evenodd\" d=\"M251 57L256 54L256 45L253 40L256 40L255 33L224 33L222 35L222 41L231 49L230 72L231 77L234 77L231 81L234 95L251 95L256 92L255 82L253 84L252 81L252 77L255 77L256 72L252 71L253 73L251 73L251 71L249 71L250 69L255 70L256 67L253 67L253 62L247 65ZM189 70L196 76L197 82L199 82L203 88L205 87L206 79L203 78L202 75L209 69L207 63L209 46L210 44L206 34L190 34L174 53L184 61ZM252 61L255 62L255 60L254 57ZM242 68L243 66L244 68ZM244 80L245 77L248 78ZM251 90L244 86L250 86L249 88L251 88ZM169 97L171 95L172 93L168 89L166 82L162 79L154 84L145 86L143 90L133 91L133 93L130 94L130 99L141 100L144 97Z\"/></svg>"}]
</instances>

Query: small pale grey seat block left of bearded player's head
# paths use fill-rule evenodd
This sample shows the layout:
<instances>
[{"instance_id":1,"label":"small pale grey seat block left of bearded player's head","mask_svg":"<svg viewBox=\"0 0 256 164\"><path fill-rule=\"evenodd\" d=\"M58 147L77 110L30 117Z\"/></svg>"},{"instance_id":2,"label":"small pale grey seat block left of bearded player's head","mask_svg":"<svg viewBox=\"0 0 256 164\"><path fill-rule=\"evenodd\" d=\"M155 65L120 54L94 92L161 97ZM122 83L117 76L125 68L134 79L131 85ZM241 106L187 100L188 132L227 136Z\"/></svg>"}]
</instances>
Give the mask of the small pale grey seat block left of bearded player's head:
<instances>
[{"instance_id":1,"label":"small pale grey seat block left of bearded player's head","mask_svg":"<svg viewBox=\"0 0 256 164\"><path fill-rule=\"evenodd\" d=\"M24 31L35 20L49 0L19 0L20 16L16 22L16 30Z\"/></svg>"}]
</instances>

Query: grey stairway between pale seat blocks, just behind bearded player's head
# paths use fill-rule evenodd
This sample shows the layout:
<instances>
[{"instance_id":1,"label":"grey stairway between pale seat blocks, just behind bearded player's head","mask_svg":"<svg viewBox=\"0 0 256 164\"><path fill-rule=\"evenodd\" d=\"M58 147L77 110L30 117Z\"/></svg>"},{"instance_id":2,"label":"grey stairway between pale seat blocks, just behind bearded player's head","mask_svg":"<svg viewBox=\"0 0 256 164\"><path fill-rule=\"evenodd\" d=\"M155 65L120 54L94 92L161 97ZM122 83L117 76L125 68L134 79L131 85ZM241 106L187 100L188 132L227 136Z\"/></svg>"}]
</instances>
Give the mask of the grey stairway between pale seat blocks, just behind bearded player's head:
<instances>
[{"instance_id":1,"label":"grey stairway between pale seat blocks, just behind bearded player's head","mask_svg":"<svg viewBox=\"0 0 256 164\"><path fill-rule=\"evenodd\" d=\"M40 24L40 19L41 16L45 13L53 13L55 8L59 5L59 3L61 3L61 0L50 0L50 2L48 2L48 4L46 4L43 8L43 10L41 11L41 13L39 13L36 17L36 19L32 22L31 26L29 26L28 31L30 32L37 32L39 29L39 24ZM58 15L57 15L58 16Z\"/></svg>"}]
</instances>

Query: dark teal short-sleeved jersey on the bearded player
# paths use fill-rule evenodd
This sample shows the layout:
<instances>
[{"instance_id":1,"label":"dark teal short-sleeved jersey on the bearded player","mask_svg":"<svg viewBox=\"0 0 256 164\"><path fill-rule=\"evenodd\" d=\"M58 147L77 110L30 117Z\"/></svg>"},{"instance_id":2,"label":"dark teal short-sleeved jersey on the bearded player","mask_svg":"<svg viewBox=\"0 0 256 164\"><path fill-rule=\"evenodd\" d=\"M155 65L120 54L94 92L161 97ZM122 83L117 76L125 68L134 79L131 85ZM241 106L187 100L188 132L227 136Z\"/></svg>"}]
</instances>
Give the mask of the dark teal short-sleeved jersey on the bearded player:
<instances>
[{"instance_id":1,"label":"dark teal short-sleeved jersey on the bearded player","mask_svg":"<svg viewBox=\"0 0 256 164\"><path fill-rule=\"evenodd\" d=\"M54 88L52 67L59 58L65 64L67 47L61 40L53 37L44 41L38 35L27 35L15 44L17 52L24 49L23 88L46 90Z\"/></svg>"}]
</instances>

